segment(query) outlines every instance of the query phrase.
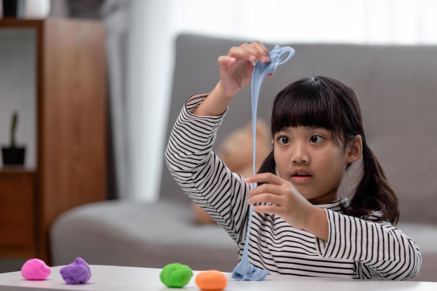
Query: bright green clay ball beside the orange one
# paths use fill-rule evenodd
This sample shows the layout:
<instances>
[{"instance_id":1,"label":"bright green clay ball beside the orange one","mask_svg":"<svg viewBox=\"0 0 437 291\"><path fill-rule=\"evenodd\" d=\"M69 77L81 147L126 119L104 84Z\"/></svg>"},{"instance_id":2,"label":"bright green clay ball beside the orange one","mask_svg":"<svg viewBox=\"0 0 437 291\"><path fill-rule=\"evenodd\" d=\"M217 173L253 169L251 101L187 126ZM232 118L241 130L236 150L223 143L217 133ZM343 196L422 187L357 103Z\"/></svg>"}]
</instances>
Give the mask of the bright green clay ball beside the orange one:
<instances>
[{"instance_id":1,"label":"bright green clay ball beside the orange one","mask_svg":"<svg viewBox=\"0 0 437 291\"><path fill-rule=\"evenodd\" d=\"M193 276L193 270L187 265L179 263L168 264L160 274L161 282L170 288L181 288L188 284Z\"/></svg>"}]
</instances>

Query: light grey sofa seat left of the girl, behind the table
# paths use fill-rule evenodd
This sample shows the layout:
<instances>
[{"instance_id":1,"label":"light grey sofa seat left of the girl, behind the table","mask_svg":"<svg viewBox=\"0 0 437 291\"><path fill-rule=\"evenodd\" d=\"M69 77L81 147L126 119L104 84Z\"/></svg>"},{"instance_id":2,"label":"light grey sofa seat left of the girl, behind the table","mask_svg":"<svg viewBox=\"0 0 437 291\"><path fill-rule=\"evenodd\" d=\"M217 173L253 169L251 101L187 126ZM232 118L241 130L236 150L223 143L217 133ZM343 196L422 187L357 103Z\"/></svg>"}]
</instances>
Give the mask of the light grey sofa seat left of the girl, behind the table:
<instances>
[{"instance_id":1,"label":"light grey sofa seat left of the girl, behind the table","mask_svg":"<svg viewBox=\"0 0 437 291\"><path fill-rule=\"evenodd\" d=\"M198 226L190 207L165 200L108 200L62 213L50 230L53 265L82 257L88 264L162 268L179 262L193 270L232 272L237 244L218 225Z\"/></svg>"}]
</instances>

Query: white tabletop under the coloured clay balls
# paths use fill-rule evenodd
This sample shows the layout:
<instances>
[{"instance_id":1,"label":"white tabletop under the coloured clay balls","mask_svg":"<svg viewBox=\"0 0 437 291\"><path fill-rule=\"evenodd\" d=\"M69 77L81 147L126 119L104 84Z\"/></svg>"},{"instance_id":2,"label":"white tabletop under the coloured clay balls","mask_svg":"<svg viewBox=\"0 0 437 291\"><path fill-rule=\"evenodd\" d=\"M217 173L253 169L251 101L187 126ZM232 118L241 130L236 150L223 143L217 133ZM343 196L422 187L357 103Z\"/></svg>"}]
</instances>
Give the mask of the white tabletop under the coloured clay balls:
<instances>
[{"instance_id":1,"label":"white tabletop under the coloured clay balls","mask_svg":"<svg viewBox=\"0 0 437 291\"><path fill-rule=\"evenodd\" d=\"M91 278L87 284L67 285L59 270L64 266L50 267L52 273L44 281L29 281L21 277L21 272L0 274L0 290L101 290L101 291L154 291L181 290L167 288L160 281L162 269L90 265ZM194 282L200 271L193 271L193 277L185 286L187 290L200 290ZM299 277L289 275L267 275L264 281L237 281L231 273L223 273L228 279L224 290L437 290L437 282L416 281L369 281L319 277Z\"/></svg>"}]
</instances>

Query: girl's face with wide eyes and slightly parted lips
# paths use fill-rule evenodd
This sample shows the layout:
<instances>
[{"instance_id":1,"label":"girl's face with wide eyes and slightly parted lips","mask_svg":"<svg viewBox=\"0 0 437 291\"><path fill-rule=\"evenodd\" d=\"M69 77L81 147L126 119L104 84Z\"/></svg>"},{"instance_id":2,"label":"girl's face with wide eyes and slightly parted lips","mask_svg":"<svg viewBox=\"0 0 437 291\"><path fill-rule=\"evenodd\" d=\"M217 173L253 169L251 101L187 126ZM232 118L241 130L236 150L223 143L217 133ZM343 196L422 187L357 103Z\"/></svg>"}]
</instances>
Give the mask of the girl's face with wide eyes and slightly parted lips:
<instances>
[{"instance_id":1,"label":"girl's face with wide eyes and slightly parted lips","mask_svg":"<svg viewBox=\"0 0 437 291\"><path fill-rule=\"evenodd\" d=\"M339 199L337 189L348 163L361 156L361 136L348 143L347 151L337 147L331 132L322 127L287 127L274 134L274 160L279 176L290 181L314 205ZM303 168L312 175L298 181L292 172Z\"/></svg>"}]
</instances>

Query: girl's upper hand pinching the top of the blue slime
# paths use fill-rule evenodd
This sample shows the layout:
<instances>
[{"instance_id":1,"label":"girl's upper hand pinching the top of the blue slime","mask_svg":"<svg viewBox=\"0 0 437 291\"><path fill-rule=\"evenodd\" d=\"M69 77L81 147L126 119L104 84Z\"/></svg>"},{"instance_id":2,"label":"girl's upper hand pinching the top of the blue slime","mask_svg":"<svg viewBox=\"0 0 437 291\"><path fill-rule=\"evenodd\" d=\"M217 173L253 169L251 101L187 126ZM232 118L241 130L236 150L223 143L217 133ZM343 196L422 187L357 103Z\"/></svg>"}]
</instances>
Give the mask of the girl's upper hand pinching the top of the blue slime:
<instances>
[{"instance_id":1,"label":"girl's upper hand pinching the top of the blue slime","mask_svg":"<svg viewBox=\"0 0 437 291\"><path fill-rule=\"evenodd\" d=\"M270 62L269 52L260 41L253 41L250 45L244 43L239 47L232 47L228 55L221 55L217 62L220 67L220 82L225 96L232 98L236 93L252 81L252 71L255 60ZM267 75L273 77L274 73Z\"/></svg>"}]
</instances>

